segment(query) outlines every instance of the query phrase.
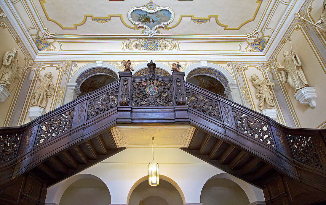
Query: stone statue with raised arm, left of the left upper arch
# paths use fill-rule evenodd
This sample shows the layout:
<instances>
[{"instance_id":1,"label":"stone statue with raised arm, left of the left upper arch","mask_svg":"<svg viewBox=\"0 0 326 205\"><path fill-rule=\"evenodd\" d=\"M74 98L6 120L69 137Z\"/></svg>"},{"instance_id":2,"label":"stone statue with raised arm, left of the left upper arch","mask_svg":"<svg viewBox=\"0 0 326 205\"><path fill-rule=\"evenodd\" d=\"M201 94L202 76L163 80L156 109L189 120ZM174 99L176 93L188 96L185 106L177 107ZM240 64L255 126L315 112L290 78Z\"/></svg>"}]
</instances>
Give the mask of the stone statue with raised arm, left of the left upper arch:
<instances>
[{"instance_id":1,"label":"stone statue with raised arm, left of the left upper arch","mask_svg":"<svg viewBox=\"0 0 326 205\"><path fill-rule=\"evenodd\" d=\"M46 98L50 98L52 96L51 91L49 90L49 86L55 90L55 86L53 85L51 81L52 73L46 72L44 77L41 77L36 72L34 73L36 77L41 81L41 83L37 86L37 89L32 94L32 100L31 106L32 107L46 107Z\"/></svg>"}]
</instances>

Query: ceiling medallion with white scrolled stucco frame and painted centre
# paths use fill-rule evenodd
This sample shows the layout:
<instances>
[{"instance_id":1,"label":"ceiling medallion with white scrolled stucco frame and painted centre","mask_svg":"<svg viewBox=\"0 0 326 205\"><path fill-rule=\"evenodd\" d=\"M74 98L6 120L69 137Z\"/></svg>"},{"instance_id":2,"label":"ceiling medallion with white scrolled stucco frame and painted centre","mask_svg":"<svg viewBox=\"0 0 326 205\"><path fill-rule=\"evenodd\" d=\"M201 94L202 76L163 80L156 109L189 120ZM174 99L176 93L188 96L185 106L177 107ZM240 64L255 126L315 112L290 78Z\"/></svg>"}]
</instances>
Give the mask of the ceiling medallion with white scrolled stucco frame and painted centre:
<instances>
[{"instance_id":1,"label":"ceiling medallion with white scrolled stucco frame and painted centre","mask_svg":"<svg viewBox=\"0 0 326 205\"><path fill-rule=\"evenodd\" d=\"M164 28L174 19L174 12L169 7L159 7L152 0L142 7L133 7L128 11L128 19L137 27L144 28L142 34L153 37L159 34L156 29Z\"/></svg>"}]
</instances>

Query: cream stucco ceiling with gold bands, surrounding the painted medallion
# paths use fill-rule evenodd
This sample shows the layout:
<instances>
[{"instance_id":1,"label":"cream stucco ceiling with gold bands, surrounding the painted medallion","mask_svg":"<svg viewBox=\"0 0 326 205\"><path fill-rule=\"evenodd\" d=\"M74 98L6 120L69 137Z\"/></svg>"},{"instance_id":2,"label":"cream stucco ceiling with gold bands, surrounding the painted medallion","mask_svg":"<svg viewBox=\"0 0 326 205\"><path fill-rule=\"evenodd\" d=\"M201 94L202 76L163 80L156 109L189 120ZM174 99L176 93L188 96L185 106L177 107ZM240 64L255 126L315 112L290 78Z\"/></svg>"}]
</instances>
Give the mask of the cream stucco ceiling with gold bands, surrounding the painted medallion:
<instances>
[{"instance_id":1,"label":"cream stucco ceiling with gold bands, surrounding the painted medallion","mask_svg":"<svg viewBox=\"0 0 326 205\"><path fill-rule=\"evenodd\" d=\"M127 13L149 0L12 0L12 3L28 30L38 29L32 23L35 18L48 32L57 35L121 35L141 34L142 29L134 29ZM262 0L153 0L153 3L173 11L170 29L160 29L161 34L172 35L252 33L268 5L268 1Z\"/></svg>"}]
</instances>

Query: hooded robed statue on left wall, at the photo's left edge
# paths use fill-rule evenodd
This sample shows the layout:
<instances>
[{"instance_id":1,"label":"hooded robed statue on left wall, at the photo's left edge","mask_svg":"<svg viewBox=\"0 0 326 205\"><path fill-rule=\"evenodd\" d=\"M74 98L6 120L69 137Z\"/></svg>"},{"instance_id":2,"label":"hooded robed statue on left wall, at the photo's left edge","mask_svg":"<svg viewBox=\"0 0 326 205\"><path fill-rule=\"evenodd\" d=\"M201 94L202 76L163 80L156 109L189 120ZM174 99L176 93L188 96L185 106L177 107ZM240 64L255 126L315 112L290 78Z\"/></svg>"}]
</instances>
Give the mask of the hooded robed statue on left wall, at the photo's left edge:
<instances>
[{"instance_id":1,"label":"hooded robed statue on left wall, at the photo's left edge","mask_svg":"<svg viewBox=\"0 0 326 205\"><path fill-rule=\"evenodd\" d=\"M0 69L0 85L9 90L14 79L20 79L22 72L26 70L18 66L18 49L12 48L11 51L7 51L3 57L2 66Z\"/></svg>"}]
</instances>

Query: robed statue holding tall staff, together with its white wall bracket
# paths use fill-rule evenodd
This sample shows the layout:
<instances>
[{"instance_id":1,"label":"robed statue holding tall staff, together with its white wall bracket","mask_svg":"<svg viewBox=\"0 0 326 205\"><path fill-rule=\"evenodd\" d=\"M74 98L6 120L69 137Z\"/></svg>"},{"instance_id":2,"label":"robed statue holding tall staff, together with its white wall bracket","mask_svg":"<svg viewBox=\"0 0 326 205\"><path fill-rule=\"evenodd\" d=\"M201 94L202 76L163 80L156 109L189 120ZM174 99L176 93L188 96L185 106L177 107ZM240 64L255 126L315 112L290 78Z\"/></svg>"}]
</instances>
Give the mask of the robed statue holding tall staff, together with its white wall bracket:
<instances>
[{"instance_id":1,"label":"robed statue holding tall staff, together with its white wall bracket","mask_svg":"<svg viewBox=\"0 0 326 205\"><path fill-rule=\"evenodd\" d=\"M292 49L291 36L288 35L291 52L284 51L283 66L278 63L277 74L282 83L289 83L294 89L294 97L301 104L309 104L311 107L316 107L316 91L315 87L308 87L307 79L301 68L299 56Z\"/></svg>"}]
</instances>

